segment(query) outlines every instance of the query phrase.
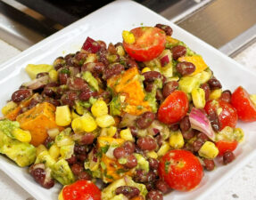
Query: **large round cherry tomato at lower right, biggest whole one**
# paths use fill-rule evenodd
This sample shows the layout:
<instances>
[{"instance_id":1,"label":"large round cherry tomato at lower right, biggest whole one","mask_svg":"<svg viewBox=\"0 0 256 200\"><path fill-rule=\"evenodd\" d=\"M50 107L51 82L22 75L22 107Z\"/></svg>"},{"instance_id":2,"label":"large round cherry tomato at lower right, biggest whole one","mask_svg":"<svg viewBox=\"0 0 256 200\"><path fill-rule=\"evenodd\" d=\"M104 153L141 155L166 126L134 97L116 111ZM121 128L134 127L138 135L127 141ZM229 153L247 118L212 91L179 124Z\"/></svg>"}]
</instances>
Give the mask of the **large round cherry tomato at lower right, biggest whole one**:
<instances>
[{"instance_id":1,"label":"large round cherry tomato at lower right, biggest whole one","mask_svg":"<svg viewBox=\"0 0 256 200\"><path fill-rule=\"evenodd\" d=\"M202 180L202 164L187 150L171 150L161 157L159 175L170 188L188 191L199 185Z\"/></svg>"}]
</instances>

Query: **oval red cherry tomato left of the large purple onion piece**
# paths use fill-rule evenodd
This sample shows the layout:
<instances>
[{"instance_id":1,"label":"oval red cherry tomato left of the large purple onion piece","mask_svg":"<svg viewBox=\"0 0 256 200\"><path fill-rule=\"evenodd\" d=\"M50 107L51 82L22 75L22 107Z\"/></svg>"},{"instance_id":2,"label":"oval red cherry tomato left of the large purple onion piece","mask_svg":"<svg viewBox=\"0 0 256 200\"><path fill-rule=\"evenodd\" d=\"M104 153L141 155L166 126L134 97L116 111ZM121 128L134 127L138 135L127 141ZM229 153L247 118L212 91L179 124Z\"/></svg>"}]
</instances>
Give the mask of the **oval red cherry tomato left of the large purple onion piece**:
<instances>
[{"instance_id":1,"label":"oval red cherry tomato left of the large purple onion piece","mask_svg":"<svg viewBox=\"0 0 256 200\"><path fill-rule=\"evenodd\" d=\"M158 109L158 119L164 124L177 123L186 116L187 110L186 93L182 91L171 92Z\"/></svg>"}]
</instances>

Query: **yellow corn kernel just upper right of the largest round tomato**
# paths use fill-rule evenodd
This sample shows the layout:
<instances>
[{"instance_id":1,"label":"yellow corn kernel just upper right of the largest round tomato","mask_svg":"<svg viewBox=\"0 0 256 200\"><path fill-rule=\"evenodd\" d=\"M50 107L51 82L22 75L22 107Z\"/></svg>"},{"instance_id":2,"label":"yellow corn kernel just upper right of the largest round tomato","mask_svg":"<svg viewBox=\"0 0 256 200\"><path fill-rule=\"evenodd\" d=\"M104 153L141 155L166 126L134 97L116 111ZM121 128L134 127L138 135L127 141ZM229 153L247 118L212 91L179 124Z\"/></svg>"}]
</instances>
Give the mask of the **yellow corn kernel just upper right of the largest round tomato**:
<instances>
[{"instance_id":1,"label":"yellow corn kernel just upper right of the largest round tomato","mask_svg":"<svg viewBox=\"0 0 256 200\"><path fill-rule=\"evenodd\" d=\"M219 154L219 149L211 141L206 141L198 151L199 156L213 159Z\"/></svg>"}]
</instances>

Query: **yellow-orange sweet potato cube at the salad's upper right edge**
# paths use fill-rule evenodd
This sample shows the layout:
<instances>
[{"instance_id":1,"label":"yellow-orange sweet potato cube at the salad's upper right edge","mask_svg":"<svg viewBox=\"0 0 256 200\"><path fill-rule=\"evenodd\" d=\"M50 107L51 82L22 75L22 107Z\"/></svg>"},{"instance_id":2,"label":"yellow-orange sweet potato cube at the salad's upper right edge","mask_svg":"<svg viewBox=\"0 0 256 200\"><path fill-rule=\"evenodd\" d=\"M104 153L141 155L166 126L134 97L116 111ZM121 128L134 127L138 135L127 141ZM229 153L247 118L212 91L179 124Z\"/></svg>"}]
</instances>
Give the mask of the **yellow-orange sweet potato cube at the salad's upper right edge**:
<instances>
[{"instance_id":1,"label":"yellow-orange sweet potato cube at the salad's upper right edge","mask_svg":"<svg viewBox=\"0 0 256 200\"><path fill-rule=\"evenodd\" d=\"M179 62L192 62L194 64L195 70L194 72L189 76L194 76L200 72L202 72L205 68L208 68L204 60L202 60L202 56L200 55L194 55L194 56L184 56L178 58Z\"/></svg>"}]
</instances>

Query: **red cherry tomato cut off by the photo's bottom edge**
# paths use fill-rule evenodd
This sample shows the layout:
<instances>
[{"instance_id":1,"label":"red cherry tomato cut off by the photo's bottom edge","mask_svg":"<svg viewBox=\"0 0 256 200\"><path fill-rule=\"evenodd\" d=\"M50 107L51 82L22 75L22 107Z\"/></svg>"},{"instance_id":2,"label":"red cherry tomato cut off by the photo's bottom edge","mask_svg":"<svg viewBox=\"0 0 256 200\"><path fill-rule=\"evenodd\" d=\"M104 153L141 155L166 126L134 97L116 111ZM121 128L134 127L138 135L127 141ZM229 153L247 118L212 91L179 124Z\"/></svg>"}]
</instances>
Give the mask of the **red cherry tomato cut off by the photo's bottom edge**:
<instances>
[{"instance_id":1,"label":"red cherry tomato cut off by the photo's bottom edge","mask_svg":"<svg viewBox=\"0 0 256 200\"><path fill-rule=\"evenodd\" d=\"M62 190L64 200L101 200L101 190L90 180L78 180Z\"/></svg>"}]
</instances>

